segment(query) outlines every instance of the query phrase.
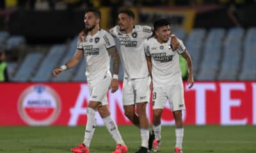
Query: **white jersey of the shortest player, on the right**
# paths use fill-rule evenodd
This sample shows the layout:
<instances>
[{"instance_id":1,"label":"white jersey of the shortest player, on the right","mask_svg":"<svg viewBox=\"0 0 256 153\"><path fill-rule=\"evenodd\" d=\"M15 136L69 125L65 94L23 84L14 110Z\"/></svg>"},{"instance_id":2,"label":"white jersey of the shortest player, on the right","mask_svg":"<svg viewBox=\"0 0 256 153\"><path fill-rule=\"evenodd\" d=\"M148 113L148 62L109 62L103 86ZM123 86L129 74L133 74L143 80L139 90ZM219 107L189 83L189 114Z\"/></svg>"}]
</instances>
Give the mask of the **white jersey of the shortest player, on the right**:
<instances>
[{"instance_id":1,"label":"white jersey of the shortest player, on the right","mask_svg":"<svg viewBox=\"0 0 256 153\"><path fill-rule=\"evenodd\" d=\"M186 47L178 39L180 47L173 52L170 47L171 38L166 43L159 43L156 38L145 41L145 54L151 56L152 80L154 87L170 87L179 84L181 71L179 65L179 54L185 52Z\"/></svg>"}]
</instances>

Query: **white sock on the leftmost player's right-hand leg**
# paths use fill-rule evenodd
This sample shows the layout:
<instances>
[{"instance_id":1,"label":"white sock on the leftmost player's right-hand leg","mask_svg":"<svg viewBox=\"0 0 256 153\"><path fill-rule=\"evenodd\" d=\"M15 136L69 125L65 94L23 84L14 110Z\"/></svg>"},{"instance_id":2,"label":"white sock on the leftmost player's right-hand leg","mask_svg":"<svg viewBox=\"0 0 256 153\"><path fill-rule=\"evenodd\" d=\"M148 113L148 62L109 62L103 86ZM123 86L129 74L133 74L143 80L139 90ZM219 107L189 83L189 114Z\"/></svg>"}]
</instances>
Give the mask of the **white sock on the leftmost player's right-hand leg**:
<instances>
[{"instance_id":1,"label":"white sock on the leftmost player's right-hand leg","mask_svg":"<svg viewBox=\"0 0 256 153\"><path fill-rule=\"evenodd\" d=\"M111 118L109 115L108 117L105 117L102 119L106 128L108 129L110 135L115 140L116 143L120 145L125 145L124 140L122 139L122 136L120 135L118 128L116 126L115 121Z\"/></svg>"}]
</instances>

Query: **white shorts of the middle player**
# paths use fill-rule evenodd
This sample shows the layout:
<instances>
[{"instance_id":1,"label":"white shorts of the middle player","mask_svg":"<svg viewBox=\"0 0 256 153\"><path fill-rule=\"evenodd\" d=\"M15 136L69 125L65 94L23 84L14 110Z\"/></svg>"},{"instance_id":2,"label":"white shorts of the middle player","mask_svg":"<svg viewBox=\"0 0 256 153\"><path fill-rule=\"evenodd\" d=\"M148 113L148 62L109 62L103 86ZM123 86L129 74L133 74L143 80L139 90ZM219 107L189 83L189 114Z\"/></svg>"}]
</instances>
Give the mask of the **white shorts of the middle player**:
<instances>
[{"instance_id":1,"label":"white shorts of the middle player","mask_svg":"<svg viewBox=\"0 0 256 153\"><path fill-rule=\"evenodd\" d=\"M150 99L150 77L129 79L123 82L123 105L135 105Z\"/></svg>"}]
</instances>

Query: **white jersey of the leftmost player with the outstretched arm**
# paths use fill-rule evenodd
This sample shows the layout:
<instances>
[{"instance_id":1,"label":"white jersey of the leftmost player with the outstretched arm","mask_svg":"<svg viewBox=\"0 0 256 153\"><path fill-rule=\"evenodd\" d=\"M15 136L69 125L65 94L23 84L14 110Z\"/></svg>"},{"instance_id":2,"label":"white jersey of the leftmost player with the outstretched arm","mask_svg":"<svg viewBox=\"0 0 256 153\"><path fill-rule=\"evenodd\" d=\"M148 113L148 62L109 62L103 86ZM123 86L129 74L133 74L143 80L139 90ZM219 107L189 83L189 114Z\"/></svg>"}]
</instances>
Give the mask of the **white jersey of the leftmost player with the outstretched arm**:
<instances>
[{"instance_id":1,"label":"white jersey of the leftmost player with the outstretched arm","mask_svg":"<svg viewBox=\"0 0 256 153\"><path fill-rule=\"evenodd\" d=\"M115 41L107 31L99 29L93 36L87 34L84 42L78 41L77 49L83 50L86 61L86 77L88 82L97 82L104 78L106 73L110 73L110 56L108 48L115 46Z\"/></svg>"}]
</instances>

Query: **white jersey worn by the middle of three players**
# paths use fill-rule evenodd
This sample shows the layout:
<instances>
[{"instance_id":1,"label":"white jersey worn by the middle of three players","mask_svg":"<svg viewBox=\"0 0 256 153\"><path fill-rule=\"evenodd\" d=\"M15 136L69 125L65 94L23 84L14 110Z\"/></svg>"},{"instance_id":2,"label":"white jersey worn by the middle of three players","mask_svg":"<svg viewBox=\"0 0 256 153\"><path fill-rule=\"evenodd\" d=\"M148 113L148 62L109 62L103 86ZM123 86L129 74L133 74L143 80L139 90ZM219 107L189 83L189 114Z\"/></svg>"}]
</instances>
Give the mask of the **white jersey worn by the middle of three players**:
<instances>
[{"instance_id":1,"label":"white jersey worn by the middle of three players","mask_svg":"<svg viewBox=\"0 0 256 153\"><path fill-rule=\"evenodd\" d=\"M119 41L120 59L125 78L144 78L148 76L147 61L143 48L144 41L152 35L152 27L134 25L132 33L125 34L116 25L109 30Z\"/></svg>"}]
</instances>

